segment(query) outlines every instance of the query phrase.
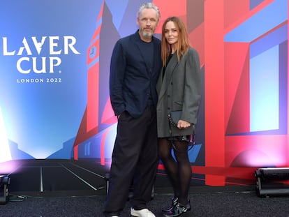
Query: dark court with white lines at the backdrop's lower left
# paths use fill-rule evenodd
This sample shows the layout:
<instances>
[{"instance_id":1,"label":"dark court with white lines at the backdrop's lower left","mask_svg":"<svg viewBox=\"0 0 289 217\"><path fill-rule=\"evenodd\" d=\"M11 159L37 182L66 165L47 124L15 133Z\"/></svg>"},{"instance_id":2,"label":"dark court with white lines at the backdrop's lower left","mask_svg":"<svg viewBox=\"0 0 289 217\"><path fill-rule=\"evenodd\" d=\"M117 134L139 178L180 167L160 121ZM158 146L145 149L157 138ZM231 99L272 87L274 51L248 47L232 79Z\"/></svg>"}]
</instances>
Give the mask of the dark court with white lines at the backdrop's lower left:
<instances>
[{"instance_id":1,"label":"dark court with white lines at the backdrop's lower left","mask_svg":"<svg viewBox=\"0 0 289 217\"><path fill-rule=\"evenodd\" d=\"M15 160L0 164L10 167L10 193L32 196L106 195L108 166L94 160ZM159 174L156 188L170 189L165 174ZM166 191L166 190L165 190Z\"/></svg>"}]
</instances>

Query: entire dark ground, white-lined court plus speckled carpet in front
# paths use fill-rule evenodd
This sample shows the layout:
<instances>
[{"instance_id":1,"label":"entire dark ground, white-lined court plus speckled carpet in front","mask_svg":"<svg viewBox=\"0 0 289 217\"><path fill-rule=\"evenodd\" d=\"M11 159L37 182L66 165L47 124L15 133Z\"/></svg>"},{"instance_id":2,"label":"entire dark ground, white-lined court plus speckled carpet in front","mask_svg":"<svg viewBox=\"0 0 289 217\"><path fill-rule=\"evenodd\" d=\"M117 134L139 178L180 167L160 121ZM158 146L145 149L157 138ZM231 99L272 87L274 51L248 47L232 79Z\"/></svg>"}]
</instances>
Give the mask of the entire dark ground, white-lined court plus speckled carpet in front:
<instances>
[{"instance_id":1,"label":"entire dark ground, white-lined court plus speckled carpet in front","mask_svg":"<svg viewBox=\"0 0 289 217\"><path fill-rule=\"evenodd\" d=\"M85 160L17 160L10 170L8 202L0 216L103 216L107 167ZM0 170L9 167L0 164ZM0 173L1 174L1 173ZM1 187L1 186L0 186ZM172 197L164 174L156 177L149 209L157 217ZM255 186L191 186L193 216L289 216L289 197L261 198ZM129 202L121 216L129 216Z\"/></svg>"}]
</instances>

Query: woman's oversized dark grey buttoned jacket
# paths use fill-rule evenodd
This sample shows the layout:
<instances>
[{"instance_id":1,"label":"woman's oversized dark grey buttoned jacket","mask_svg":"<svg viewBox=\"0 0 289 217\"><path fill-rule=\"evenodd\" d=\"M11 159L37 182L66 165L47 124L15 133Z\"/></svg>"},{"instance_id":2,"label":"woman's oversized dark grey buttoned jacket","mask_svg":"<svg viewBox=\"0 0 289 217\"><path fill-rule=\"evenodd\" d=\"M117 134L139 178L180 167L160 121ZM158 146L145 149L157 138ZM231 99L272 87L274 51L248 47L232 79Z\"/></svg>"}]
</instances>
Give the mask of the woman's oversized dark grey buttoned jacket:
<instances>
[{"instance_id":1,"label":"woman's oversized dark grey buttoned jacket","mask_svg":"<svg viewBox=\"0 0 289 217\"><path fill-rule=\"evenodd\" d=\"M202 91L200 58L198 52L190 48L179 63L177 54L173 54L165 74L163 70L156 84L158 103L156 106L158 121L158 137L191 135L193 124L197 123L198 108ZM168 114L181 110L181 120L191 123L190 128L170 127ZM171 130L170 130L171 129Z\"/></svg>"}]
</instances>

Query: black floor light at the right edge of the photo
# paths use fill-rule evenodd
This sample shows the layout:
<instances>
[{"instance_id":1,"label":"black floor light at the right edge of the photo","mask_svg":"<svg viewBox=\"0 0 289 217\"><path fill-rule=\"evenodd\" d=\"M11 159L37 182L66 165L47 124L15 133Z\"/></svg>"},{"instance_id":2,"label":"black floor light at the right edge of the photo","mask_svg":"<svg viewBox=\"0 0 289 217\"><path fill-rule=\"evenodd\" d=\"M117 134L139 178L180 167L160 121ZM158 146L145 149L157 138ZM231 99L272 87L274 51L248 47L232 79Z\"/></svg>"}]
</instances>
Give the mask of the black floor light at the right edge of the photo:
<instances>
[{"instance_id":1,"label":"black floor light at the right edge of the photo","mask_svg":"<svg viewBox=\"0 0 289 217\"><path fill-rule=\"evenodd\" d=\"M254 172L256 191L260 197L289 195L289 167L259 168Z\"/></svg>"}]
</instances>

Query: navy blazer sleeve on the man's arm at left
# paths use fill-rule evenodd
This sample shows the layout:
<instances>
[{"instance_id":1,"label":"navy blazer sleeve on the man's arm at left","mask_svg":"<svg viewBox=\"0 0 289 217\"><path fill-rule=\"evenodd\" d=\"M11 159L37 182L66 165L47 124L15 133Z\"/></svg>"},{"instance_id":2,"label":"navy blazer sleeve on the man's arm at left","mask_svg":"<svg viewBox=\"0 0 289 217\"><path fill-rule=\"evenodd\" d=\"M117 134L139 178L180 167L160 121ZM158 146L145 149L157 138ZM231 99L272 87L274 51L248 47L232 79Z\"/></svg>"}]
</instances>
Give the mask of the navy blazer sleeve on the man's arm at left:
<instances>
[{"instance_id":1,"label":"navy blazer sleeve on the man's arm at left","mask_svg":"<svg viewBox=\"0 0 289 217\"><path fill-rule=\"evenodd\" d=\"M117 41L110 60L110 102L115 115L125 110L123 86L126 68L126 58L121 41Z\"/></svg>"}]
</instances>

